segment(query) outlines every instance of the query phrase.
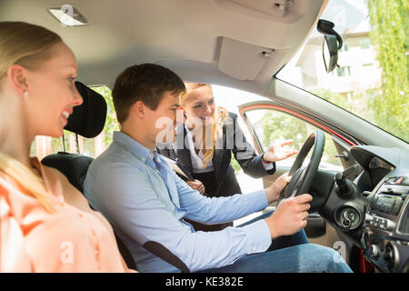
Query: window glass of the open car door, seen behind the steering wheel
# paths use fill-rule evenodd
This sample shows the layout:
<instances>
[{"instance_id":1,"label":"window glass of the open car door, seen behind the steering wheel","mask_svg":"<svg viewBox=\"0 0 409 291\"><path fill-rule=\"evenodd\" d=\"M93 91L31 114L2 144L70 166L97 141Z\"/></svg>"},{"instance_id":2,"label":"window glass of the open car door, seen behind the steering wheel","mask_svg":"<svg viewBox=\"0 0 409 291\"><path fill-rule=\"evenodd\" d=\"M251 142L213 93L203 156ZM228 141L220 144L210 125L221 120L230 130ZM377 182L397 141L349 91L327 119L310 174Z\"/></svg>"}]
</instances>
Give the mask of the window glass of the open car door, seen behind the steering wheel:
<instances>
[{"instance_id":1,"label":"window glass of the open car door, seen behind the steering wheel","mask_svg":"<svg viewBox=\"0 0 409 291\"><path fill-rule=\"evenodd\" d=\"M299 150L304 145L304 141L315 129L316 126L310 125L303 120L280 112L274 109L255 109L246 111L247 120L251 123L257 138L264 152L269 146L280 143L287 139L293 140L293 147ZM336 148L331 135L325 135L324 154L321 159L320 168L343 171L343 166L337 155ZM312 152L312 151L311 151ZM305 158L304 164L307 165L310 154ZM294 163L295 157L289 157L276 163L277 166L289 166Z\"/></svg>"}]
</instances>

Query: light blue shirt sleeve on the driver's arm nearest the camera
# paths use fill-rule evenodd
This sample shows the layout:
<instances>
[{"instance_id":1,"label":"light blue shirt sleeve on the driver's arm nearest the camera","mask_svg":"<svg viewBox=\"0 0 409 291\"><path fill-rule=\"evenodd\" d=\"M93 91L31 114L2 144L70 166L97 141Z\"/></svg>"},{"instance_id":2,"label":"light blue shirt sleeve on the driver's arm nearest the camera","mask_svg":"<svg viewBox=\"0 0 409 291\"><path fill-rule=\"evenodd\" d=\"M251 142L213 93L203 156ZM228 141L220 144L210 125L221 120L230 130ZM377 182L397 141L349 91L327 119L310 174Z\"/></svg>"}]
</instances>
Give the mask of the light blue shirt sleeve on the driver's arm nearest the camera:
<instances>
[{"instance_id":1,"label":"light blue shirt sleeve on the driver's arm nearest the camera","mask_svg":"<svg viewBox=\"0 0 409 291\"><path fill-rule=\"evenodd\" d=\"M230 265L271 244L264 220L218 232L192 232L158 198L149 176L125 163L101 168L93 191L95 204L111 223L142 246L147 242L165 246L191 272Z\"/></svg>"}]
</instances>

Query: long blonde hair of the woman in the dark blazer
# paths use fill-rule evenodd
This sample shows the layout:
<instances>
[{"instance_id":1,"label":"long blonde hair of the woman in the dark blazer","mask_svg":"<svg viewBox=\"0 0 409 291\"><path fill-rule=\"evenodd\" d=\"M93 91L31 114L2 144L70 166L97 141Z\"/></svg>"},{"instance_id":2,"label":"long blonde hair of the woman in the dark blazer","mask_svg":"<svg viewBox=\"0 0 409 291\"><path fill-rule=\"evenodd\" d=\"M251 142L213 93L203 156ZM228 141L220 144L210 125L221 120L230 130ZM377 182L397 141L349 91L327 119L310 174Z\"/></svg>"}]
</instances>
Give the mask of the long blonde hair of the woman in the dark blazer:
<instances>
[{"instance_id":1,"label":"long blonde hair of the woman in the dark blazer","mask_svg":"<svg viewBox=\"0 0 409 291\"><path fill-rule=\"evenodd\" d=\"M206 86L210 88L213 94L212 86L209 84L205 83L193 83L193 82L185 82L186 86L186 94L181 96L181 104L185 105L185 101L188 98L189 94L194 91L197 88ZM223 126L224 126L224 121L228 117L229 113L228 111L222 107L222 106L217 106L216 109L214 110L214 116L213 116L213 122L212 122L212 147L211 148L206 148L206 133L205 130L203 131L203 168L205 168L209 162L213 159L213 154L214 154L214 148L215 148L215 143L216 139L220 136L223 135Z\"/></svg>"}]
</instances>

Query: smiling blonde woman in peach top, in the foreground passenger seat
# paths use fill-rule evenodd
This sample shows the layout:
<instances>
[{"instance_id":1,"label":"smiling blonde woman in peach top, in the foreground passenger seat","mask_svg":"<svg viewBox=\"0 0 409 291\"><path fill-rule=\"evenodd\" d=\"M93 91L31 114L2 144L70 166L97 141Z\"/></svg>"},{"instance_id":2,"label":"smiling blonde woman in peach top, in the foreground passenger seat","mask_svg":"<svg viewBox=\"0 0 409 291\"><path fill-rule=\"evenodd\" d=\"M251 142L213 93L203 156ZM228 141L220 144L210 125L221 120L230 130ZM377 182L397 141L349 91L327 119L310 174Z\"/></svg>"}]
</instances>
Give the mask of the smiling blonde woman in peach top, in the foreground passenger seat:
<instances>
[{"instance_id":1,"label":"smiling blonde woman in peach top, in the foreground passenger seat","mask_svg":"<svg viewBox=\"0 0 409 291\"><path fill-rule=\"evenodd\" d=\"M60 137L82 104L76 75L60 36L0 22L0 272L128 271L105 218L29 156L35 135Z\"/></svg>"}]
</instances>

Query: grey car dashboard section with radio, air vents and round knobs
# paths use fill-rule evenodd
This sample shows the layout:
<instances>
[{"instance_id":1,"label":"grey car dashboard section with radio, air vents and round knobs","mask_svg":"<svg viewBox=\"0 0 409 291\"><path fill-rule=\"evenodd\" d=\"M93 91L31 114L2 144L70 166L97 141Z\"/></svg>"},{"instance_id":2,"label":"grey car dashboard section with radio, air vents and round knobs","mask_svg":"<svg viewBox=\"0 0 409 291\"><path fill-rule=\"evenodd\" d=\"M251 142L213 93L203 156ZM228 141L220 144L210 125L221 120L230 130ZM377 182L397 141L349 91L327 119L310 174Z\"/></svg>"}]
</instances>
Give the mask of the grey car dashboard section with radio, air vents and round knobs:
<instances>
[{"instance_id":1,"label":"grey car dashboard section with radio, air vents and round knobs","mask_svg":"<svg viewBox=\"0 0 409 291\"><path fill-rule=\"evenodd\" d=\"M360 244L384 272L409 272L409 153L396 148L353 146L364 167L354 183L367 195Z\"/></svg>"}]
</instances>

